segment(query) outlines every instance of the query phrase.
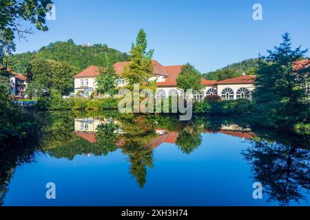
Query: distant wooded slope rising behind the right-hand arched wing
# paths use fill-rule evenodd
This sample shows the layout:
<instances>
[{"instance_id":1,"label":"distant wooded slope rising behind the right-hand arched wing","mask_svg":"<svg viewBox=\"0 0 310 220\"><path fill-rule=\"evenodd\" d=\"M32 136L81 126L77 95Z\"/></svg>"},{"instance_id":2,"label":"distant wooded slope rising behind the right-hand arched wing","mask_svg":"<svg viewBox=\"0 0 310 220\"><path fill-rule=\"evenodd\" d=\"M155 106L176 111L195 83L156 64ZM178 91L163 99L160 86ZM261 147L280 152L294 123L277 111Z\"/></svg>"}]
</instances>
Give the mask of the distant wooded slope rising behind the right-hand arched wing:
<instances>
[{"instance_id":1,"label":"distant wooded slope rising behind the right-hand arched wing","mask_svg":"<svg viewBox=\"0 0 310 220\"><path fill-rule=\"evenodd\" d=\"M257 67L258 58L251 58L239 63L233 63L214 72L208 72L203 74L203 77L207 80L225 80L227 78L241 76L242 73L248 75L255 74Z\"/></svg>"}]
</instances>

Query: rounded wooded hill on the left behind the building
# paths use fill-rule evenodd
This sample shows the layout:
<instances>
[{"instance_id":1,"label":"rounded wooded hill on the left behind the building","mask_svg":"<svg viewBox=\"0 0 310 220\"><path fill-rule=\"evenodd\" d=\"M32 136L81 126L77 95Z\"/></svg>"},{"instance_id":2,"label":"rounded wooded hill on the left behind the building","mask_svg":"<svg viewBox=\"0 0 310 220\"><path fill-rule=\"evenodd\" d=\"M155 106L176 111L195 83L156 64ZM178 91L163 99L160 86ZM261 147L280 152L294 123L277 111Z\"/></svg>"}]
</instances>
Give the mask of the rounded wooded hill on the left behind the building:
<instances>
[{"instance_id":1,"label":"rounded wooded hill on the left behind the building","mask_svg":"<svg viewBox=\"0 0 310 220\"><path fill-rule=\"evenodd\" d=\"M105 44L95 44L92 46L76 45L70 39L66 42L50 43L50 45L41 47L36 52L14 54L10 58L10 67L15 72L24 73L30 61L34 58L66 62L68 65L77 67L81 71L90 65L106 67L108 61L111 63L129 61L130 56L127 53L109 48Z\"/></svg>"}]
</instances>

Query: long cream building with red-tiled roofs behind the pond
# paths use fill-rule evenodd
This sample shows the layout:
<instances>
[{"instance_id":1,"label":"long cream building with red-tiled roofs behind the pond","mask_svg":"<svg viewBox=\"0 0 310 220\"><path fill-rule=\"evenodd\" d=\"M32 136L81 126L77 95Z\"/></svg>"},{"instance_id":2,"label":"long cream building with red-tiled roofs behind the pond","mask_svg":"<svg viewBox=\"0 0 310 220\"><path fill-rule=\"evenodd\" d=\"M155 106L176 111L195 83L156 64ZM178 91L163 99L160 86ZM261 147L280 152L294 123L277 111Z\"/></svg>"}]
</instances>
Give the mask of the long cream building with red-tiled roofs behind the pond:
<instances>
[{"instance_id":1,"label":"long cream building with red-tiled roofs behind the pond","mask_svg":"<svg viewBox=\"0 0 310 220\"><path fill-rule=\"evenodd\" d=\"M118 79L118 87L126 85L125 79L122 78L122 73L125 65L130 62L119 62L114 64L116 74L120 76ZM163 66L158 61L153 60L153 76L149 81L156 82L157 98L165 98L168 96L178 96L183 93L176 85L176 78L182 69L183 65ZM96 77L99 76L99 67L91 66L83 70L81 73L74 76L74 92L83 92L86 96L96 93ZM217 95L223 99L231 100L236 98L249 97L250 91L254 89L256 76L243 75L227 80L205 80L201 78L201 84L204 86L200 94L194 94L194 98L201 100L205 96Z\"/></svg>"}]
</instances>

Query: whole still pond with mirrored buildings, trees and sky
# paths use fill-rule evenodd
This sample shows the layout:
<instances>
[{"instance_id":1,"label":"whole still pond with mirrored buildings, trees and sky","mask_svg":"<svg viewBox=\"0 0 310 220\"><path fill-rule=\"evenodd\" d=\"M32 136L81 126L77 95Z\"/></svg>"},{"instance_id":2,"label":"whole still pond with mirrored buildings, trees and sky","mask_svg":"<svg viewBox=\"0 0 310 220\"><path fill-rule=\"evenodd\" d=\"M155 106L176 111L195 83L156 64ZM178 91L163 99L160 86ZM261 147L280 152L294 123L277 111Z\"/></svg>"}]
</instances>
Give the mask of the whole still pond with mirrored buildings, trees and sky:
<instances>
[{"instance_id":1,"label":"whole still pond with mirrored buildings, trees and sky","mask_svg":"<svg viewBox=\"0 0 310 220\"><path fill-rule=\"evenodd\" d=\"M3 206L310 204L309 137L205 116L47 114L39 144L1 154Z\"/></svg>"}]
</instances>

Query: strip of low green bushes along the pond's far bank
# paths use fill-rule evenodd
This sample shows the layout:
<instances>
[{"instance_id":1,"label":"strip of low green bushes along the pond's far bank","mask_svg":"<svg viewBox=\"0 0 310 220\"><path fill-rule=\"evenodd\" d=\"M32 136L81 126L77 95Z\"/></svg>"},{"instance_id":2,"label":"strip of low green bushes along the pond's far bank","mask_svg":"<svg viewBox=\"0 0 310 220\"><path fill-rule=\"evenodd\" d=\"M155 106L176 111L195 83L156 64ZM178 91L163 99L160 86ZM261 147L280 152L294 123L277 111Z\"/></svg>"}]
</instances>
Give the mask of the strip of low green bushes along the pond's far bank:
<instances>
[{"instance_id":1,"label":"strip of low green bushes along the pond's far bank","mask_svg":"<svg viewBox=\"0 0 310 220\"><path fill-rule=\"evenodd\" d=\"M169 99L169 98L167 98ZM37 111L116 111L120 98L69 98L62 99L61 96L52 96L52 98L43 98L38 100L34 105ZM171 107L171 99L168 100ZM268 118L262 121L260 115L254 111L255 106L251 100L220 100L217 97L207 97L202 102L194 102L194 116L209 116L209 117L230 117L242 118L247 124L252 124L256 127L278 129L280 131L295 131L300 135L310 135L310 124L297 123L294 126L269 126ZM162 107L163 110L163 107ZM169 109L171 110L171 109ZM163 111L162 111L163 112ZM180 113L137 113L140 115L179 115Z\"/></svg>"}]
</instances>

